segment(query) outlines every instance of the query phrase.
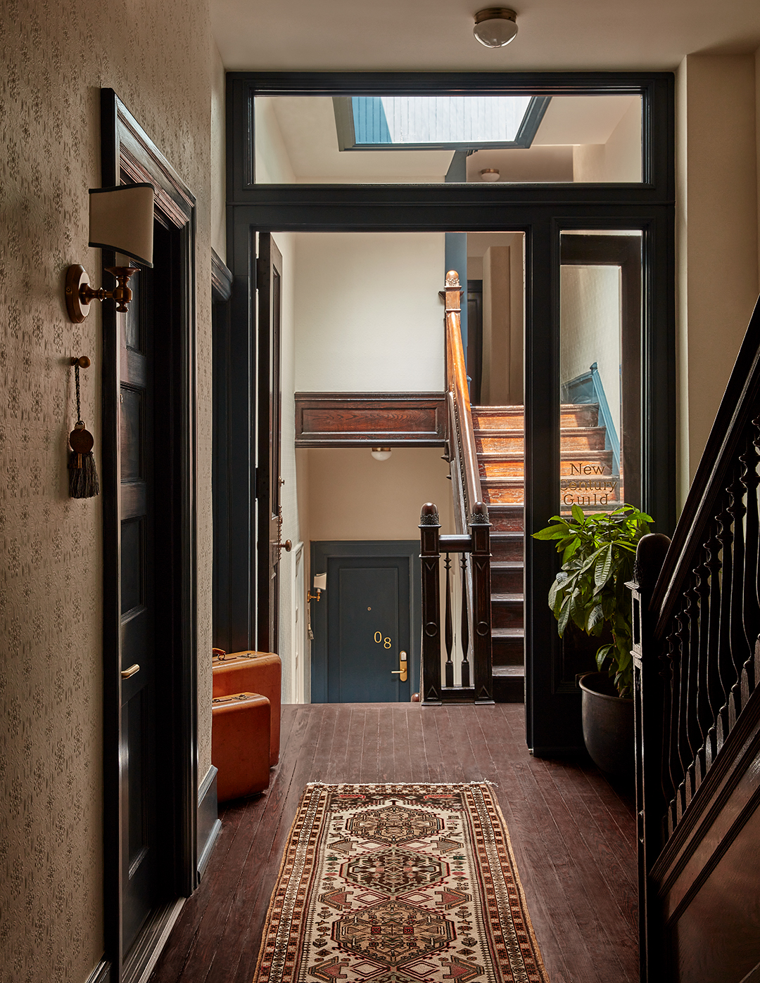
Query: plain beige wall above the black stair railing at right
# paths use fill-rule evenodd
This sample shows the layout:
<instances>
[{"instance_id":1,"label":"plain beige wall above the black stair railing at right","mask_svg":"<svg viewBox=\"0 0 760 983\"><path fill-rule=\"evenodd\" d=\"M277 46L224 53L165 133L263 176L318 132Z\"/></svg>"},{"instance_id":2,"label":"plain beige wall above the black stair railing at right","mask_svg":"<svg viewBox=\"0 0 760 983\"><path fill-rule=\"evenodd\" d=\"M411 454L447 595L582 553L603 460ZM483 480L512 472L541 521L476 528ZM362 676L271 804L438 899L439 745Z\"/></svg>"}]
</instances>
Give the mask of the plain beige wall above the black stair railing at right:
<instances>
[{"instance_id":1,"label":"plain beige wall above the black stair railing at right","mask_svg":"<svg viewBox=\"0 0 760 983\"><path fill-rule=\"evenodd\" d=\"M681 503L757 299L756 64L689 55L676 75Z\"/></svg>"}]
</instances>

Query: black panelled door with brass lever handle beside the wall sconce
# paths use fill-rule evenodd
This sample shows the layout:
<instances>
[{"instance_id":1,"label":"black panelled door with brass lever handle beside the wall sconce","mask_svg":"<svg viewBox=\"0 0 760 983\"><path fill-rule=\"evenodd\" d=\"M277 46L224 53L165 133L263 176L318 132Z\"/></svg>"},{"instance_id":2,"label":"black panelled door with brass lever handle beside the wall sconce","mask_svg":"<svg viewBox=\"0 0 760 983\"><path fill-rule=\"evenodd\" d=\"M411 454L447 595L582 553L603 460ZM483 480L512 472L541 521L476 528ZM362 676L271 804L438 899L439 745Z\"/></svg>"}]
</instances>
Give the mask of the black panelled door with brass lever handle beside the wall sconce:
<instances>
[{"instance_id":1,"label":"black panelled door with brass lever handle beside the wall sconce","mask_svg":"<svg viewBox=\"0 0 760 983\"><path fill-rule=\"evenodd\" d=\"M134 284L134 285L133 285ZM159 903L156 781L152 270L134 277L118 318L121 455L121 781L123 952Z\"/></svg>"}]
</instances>

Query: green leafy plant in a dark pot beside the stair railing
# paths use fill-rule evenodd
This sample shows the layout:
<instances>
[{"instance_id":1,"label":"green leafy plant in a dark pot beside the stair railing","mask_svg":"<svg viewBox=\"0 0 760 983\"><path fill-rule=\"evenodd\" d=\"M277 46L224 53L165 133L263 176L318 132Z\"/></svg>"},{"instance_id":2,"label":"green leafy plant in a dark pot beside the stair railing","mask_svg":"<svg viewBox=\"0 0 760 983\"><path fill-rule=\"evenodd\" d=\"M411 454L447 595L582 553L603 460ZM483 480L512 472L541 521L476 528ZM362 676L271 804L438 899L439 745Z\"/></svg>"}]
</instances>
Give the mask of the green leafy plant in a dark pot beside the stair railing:
<instances>
[{"instance_id":1,"label":"green leafy plant in a dark pot beside the stair railing","mask_svg":"<svg viewBox=\"0 0 760 983\"><path fill-rule=\"evenodd\" d=\"M612 512L555 515L534 539L555 541L562 565L549 592L561 638L572 622L606 641L596 654L597 672L581 676L583 737L594 762L609 773L633 764L633 645L631 605L625 584L633 579L636 545L649 533L651 516L624 504Z\"/></svg>"}]
</instances>

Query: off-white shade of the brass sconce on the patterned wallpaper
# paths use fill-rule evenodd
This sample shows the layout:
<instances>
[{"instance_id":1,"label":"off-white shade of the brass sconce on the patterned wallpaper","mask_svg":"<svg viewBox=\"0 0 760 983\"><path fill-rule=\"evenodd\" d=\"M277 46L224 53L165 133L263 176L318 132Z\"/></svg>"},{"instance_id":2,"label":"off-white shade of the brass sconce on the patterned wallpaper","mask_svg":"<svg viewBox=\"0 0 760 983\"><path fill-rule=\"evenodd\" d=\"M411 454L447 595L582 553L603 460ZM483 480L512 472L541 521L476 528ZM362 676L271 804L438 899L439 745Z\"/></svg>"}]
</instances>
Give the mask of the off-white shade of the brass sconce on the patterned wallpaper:
<instances>
[{"instance_id":1,"label":"off-white shade of the brass sconce on the patterned wallpaper","mask_svg":"<svg viewBox=\"0 0 760 983\"><path fill-rule=\"evenodd\" d=\"M89 245L153 265L153 186L89 189Z\"/></svg>"}]
</instances>

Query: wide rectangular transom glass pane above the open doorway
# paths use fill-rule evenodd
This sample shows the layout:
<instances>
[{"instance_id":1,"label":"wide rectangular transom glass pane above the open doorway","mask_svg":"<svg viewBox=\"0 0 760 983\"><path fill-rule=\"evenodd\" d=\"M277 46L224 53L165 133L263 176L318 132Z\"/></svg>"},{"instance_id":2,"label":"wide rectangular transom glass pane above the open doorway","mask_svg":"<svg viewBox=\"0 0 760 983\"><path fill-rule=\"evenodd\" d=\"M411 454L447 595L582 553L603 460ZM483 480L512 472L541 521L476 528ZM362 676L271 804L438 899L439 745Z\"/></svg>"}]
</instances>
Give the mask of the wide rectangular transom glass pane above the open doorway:
<instances>
[{"instance_id":1,"label":"wide rectangular transom glass pane above the open doorway","mask_svg":"<svg viewBox=\"0 0 760 983\"><path fill-rule=\"evenodd\" d=\"M637 94L254 101L257 184L642 181Z\"/></svg>"}]
</instances>

